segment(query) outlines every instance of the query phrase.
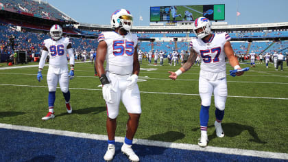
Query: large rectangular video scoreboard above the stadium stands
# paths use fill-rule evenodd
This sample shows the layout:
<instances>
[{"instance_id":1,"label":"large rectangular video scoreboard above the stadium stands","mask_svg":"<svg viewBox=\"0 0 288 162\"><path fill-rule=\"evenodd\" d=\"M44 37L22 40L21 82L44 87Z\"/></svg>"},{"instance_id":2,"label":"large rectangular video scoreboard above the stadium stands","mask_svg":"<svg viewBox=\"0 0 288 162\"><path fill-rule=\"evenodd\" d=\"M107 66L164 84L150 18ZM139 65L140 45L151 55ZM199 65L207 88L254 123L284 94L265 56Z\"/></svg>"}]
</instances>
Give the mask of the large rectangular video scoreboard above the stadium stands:
<instances>
[{"instance_id":1,"label":"large rectangular video scoreboard above the stadium stands","mask_svg":"<svg viewBox=\"0 0 288 162\"><path fill-rule=\"evenodd\" d=\"M225 20L225 5L171 5L150 7L150 21L194 21L204 16L211 21Z\"/></svg>"}]
</instances>

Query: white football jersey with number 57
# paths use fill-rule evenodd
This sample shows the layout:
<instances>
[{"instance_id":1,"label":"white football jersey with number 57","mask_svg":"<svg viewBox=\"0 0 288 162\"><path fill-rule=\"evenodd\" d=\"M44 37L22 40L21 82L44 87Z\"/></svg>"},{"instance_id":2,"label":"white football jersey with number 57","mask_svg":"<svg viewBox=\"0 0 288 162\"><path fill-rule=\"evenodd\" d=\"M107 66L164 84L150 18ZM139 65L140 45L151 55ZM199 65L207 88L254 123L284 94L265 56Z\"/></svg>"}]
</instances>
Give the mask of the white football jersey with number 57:
<instances>
[{"instance_id":1,"label":"white football jersey with number 57","mask_svg":"<svg viewBox=\"0 0 288 162\"><path fill-rule=\"evenodd\" d=\"M208 41L193 38L192 47L201 58L200 76L208 80L217 80L226 77L224 45L230 40L227 33L212 34Z\"/></svg>"}]
</instances>

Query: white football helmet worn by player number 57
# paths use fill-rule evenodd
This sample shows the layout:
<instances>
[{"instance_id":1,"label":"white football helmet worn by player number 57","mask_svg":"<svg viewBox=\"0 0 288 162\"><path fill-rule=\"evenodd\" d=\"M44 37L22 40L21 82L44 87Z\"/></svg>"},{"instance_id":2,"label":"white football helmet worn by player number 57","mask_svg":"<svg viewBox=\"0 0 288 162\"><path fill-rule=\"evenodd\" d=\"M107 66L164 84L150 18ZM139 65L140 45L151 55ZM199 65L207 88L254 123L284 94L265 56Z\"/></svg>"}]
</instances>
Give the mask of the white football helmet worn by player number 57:
<instances>
[{"instance_id":1,"label":"white football helmet worn by player number 57","mask_svg":"<svg viewBox=\"0 0 288 162\"><path fill-rule=\"evenodd\" d=\"M197 29L202 28L202 32L197 33ZM198 17L193 23L193 32L200 39L211 34L211 23L206 17Z\"/></svg>"}]
</instances>

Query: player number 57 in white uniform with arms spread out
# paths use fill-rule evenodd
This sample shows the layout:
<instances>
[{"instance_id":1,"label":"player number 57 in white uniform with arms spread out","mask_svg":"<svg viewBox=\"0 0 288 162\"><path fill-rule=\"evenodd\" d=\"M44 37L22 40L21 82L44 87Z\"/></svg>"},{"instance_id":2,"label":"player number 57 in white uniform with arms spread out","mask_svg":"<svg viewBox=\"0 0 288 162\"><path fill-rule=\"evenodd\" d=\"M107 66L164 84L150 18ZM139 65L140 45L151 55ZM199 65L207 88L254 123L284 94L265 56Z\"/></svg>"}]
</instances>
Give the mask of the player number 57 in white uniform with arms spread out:
<instances>
[{"instance_id":1,"label":"player number 57 in white uniform with arms spread out","mask_svg":"<svg viewBox=\"0 0 288 162\"><path fill-rule=\"evenodd\" d=\"M202 64L200 66L199 93L201 97L200 126L201 138L198 143L201 147L206 147L208 143L207 126L209 119L209 108L211 105L211 95L215 98L215 128L217 137L224 137L221 128L221 121L224 117L225 102L227 97L226 64L225 55L228 57L230 65L234 69L241 69L234 51L230 44L230 36L226 33L211 33L211 24L205 17L200 17L193 23L193 32L197 38L193 38L190 43L190 56L188 61L176 72L169 71L172 80L189 70L194 64L197 54L200 54ZM243 71L237 72L241 76Z\"/></svg>"}]
</instances>

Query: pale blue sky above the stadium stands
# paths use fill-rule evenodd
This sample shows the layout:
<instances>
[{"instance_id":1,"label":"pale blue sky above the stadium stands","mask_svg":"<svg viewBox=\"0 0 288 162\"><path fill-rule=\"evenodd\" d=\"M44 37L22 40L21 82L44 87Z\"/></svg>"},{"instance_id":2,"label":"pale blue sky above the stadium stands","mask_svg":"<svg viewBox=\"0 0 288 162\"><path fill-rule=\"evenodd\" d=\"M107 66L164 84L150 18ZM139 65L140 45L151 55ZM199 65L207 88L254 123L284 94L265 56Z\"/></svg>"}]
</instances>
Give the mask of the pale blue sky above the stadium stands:
<instances>
[{"instance_id":1,"label":"pale blue sky above the stadium stands","mask_svg":"<svg viewBox=\"0 0 288 162\"><path fill-rule=\"evenodd\" d=\"M110 15L125 8L134 16L134 25L149 25L150 6L225 4L225 21L229 25L288 22L288 0L43 0L80 23L110 25ZM143 17L143 21L139 17Z\"/></svg>"}]
</instances>

